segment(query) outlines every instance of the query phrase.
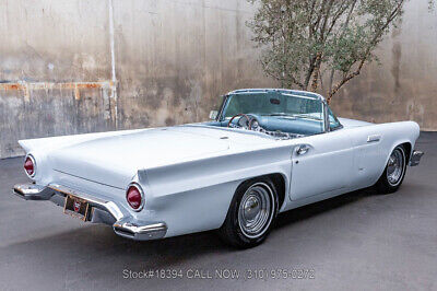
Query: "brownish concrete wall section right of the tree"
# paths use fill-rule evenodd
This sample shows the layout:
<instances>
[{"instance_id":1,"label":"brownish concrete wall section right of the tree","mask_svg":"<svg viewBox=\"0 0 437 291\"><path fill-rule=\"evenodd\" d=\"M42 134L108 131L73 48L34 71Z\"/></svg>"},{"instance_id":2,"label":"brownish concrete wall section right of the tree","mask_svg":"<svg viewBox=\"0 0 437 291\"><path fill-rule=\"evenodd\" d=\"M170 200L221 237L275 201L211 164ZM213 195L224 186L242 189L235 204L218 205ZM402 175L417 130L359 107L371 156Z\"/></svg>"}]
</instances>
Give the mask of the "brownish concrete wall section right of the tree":
<instances>
[{"instance_id":1,"label":"brownish concrete wall section right of the tree","mask_svg":"<svg viewBox=\"0 0 437 291\"><path fill-rule=\"evenodd\" d=\"M371 63L332 98L341 116L375 123L415 120L437 130L437 11L426 0L406 2L402 23Z\"/></svg>"}]
</instances>

